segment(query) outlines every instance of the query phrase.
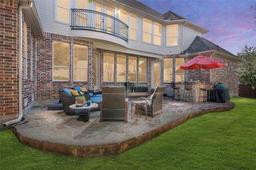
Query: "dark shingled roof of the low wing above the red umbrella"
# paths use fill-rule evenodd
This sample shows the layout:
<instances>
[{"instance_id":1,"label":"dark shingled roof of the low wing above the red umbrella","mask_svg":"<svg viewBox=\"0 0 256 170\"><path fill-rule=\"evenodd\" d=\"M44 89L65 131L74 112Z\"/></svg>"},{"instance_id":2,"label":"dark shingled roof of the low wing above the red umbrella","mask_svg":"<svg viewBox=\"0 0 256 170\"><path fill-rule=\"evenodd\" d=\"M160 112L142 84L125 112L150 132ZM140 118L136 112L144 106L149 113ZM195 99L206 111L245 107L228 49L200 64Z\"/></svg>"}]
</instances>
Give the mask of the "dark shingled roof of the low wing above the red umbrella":
<instances>
[{"instance_id":1,"label":"dark shingled roof of the low wing above the red umbrella","mask_svg":"<svg viewBox=\"0 0 256 170\"><path fill-rule=\"evenodd\" d=\"M219 51L220 53L224 53L226 55L230 55L231 57L238 58L236 55L226 51L225 49L221 48L220 46L212 43L211 41L208 41L207 39L203 37L196 36L192 44L183 51L181 54L187 54L187 53L200 53L202 51L209 51L209 50L214 50L214 51Z\"/></svg>"}]
</instances>

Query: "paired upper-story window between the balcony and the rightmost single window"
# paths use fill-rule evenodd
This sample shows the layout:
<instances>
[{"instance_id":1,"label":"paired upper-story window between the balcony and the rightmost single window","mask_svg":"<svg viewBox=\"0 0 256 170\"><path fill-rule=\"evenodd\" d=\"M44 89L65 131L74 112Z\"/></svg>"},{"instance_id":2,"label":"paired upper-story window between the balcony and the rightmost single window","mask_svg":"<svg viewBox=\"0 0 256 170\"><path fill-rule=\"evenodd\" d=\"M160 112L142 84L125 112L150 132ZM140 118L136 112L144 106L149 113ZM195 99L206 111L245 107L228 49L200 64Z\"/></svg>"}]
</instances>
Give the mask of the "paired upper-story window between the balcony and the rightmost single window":
<instances>
[{"instance_id":1,"label":"paired upper-story window between the balcony and the rightmost single window","mask_svg":"<svg viewBox=\"0 0 256 170\"><path fill-rule=\"evenodd\" d=\"M161 33L162 33L161 24L156 22L152 23L152 21L147 20L145 18L143 19L143 41L144 42L161 45Z\"/></svg>"}]
</instances>

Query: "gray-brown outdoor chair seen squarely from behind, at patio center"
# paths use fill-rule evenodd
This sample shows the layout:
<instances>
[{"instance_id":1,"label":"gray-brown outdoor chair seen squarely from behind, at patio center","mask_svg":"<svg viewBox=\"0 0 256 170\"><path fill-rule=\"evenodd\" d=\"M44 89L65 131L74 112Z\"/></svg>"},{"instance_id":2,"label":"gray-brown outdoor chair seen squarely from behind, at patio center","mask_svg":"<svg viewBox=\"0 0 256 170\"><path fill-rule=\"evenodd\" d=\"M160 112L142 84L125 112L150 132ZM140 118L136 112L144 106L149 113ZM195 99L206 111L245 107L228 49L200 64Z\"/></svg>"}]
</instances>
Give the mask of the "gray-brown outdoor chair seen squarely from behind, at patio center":
<instances>
[{"instance_id":1,"label":"gray-brown outdoor chair seen squarely from behind, at patio center","mask_svg":"<svg viewBox=\"0 0 256 170\"><path fill-rule=\"evenodd\" d=\"M125 86L102 87L100 122L104 119L128 122L128 98L125 97Z\"/></svg>"}]
</instances>

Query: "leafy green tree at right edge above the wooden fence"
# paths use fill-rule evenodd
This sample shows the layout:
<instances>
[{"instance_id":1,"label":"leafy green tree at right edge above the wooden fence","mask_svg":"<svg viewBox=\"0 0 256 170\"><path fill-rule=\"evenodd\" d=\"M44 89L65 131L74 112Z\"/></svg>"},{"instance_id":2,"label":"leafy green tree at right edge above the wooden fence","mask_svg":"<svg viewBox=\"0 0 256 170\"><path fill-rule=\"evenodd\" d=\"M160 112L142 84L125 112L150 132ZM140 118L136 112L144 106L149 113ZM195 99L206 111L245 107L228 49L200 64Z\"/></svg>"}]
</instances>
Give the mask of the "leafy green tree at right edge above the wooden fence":
<instances>
[{"instance_id":1,"label":"leafy green tree at right edge above the wooden fence","mask_svg":"<svg viewBox=\"0 0 256 170\"><path fill-rule=\"evenodd\" d=\"M244 46L240 53L237 53L240 59L239 80L242 83L250 84L252 89L256 88L256 47Z\"/></svg>"}]
</instances>

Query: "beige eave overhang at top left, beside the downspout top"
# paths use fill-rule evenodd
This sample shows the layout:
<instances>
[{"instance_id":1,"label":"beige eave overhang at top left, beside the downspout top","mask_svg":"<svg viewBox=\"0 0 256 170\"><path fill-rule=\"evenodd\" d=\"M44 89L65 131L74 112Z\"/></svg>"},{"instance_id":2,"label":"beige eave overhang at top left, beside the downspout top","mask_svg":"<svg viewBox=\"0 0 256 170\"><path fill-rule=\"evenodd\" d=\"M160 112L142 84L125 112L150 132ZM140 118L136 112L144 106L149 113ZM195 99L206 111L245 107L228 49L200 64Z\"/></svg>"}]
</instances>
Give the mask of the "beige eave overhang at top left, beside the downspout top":
<instances>
[{"instance_id":1,"label":"beige eave overhang at top left, beside the downspout top","mask_svg":"<svg viewBox=\"0 0 256 170\"><path fill-rule=\"evenodd\" d=\"M20 5L28 5L28 2L32 2L32 8L24 9L25 21L30 25L32 33L36 37L44 37L44 31L41 21L39 19L38 11L34 0L19 0Z\"/></svg>"}]
</instances>

